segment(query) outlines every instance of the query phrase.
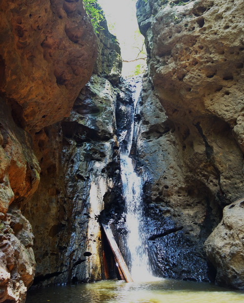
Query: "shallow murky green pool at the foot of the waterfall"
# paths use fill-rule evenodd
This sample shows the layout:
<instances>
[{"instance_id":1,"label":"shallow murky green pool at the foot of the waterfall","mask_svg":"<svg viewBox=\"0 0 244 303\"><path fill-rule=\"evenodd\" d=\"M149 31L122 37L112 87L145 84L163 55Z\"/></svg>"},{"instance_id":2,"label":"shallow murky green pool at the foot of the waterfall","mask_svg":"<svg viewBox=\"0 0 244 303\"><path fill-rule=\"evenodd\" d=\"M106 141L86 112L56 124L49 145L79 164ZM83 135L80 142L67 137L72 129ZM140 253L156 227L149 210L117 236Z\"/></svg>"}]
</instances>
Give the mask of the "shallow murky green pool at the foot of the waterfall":
<instances>
[{"instance_id":1,"label":"shallow murky green pool at the foot of the waterfall","mask_svg":"<svg viewBox=\"0 0 244 303\"><path fill-rule=\"evenodd\" d=\"M207 283L101 281L31 291L26 303L244 303L244 292Z\"/></svg>"}]
</instances>

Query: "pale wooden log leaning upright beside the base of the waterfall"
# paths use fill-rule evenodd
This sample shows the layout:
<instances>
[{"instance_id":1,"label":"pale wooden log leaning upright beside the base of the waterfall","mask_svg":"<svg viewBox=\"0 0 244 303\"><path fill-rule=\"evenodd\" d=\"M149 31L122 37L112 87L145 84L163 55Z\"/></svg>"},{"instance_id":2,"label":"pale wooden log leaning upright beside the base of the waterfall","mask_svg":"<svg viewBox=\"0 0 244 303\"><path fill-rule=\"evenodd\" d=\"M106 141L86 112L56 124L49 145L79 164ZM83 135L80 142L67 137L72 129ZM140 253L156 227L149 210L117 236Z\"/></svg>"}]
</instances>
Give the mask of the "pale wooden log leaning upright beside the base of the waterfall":
<instances>
[{"instance_id":1,"label":"pale wooden log leaning upright beside the base of the waterfall","mask_svg":"<svg viewBox=\"0 0 244 303\"><path fill-rule=\"evenodd\" d=\"M123 280L125 280L125 282L133 282L130 272L128 270L128 267L126 265L126 263L124 262L124 259L122 257L121 251L114 239L114 235L112 233L111 228L108 225L102 224L102 228L105 232L105 235L107 237L108 243L112 249L112 252L114 254L115 257L115 261L118 264L118 269L120 272L120 275L122 278L124 278Z\"/></svg>"}]
</instances>

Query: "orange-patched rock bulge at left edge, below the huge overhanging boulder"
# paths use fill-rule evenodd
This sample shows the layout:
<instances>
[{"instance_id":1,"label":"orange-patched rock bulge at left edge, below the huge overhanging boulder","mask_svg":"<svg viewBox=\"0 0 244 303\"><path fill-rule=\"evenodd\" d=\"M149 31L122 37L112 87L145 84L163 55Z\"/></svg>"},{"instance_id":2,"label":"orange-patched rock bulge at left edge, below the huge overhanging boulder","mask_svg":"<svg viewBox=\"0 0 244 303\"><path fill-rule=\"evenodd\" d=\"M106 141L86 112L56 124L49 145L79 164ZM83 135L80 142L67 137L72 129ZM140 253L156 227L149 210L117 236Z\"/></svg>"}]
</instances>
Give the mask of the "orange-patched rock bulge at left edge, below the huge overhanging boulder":
<instances>
[{"instance_id":1,"label":"orange-patched rock bulge at left edge, below the huge overhanging boulder","mask_svg":"<svg viewBox=\"0 0 244 303\"><path fill-rule=\"evenodd\" d=\"M29 134L15 124L10 108L0 98L0 212L6 213L14 199L33 194L39 173Z\"/></svg>"}]
</instances>

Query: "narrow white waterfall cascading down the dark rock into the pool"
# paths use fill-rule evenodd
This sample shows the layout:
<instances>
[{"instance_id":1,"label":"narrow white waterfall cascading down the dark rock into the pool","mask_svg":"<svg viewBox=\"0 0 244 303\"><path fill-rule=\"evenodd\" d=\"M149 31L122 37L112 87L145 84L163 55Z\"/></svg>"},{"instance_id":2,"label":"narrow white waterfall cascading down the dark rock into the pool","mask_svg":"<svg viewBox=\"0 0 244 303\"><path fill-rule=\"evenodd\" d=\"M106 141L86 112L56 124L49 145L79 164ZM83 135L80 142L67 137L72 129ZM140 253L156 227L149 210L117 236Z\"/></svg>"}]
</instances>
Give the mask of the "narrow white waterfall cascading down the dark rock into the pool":
<instances>
[{"instance_id":1,"label":"narrow white waterfall cascading down the dark rock into the pool","mask_svg":"<svg viewBox=\"0 0 244 303\"><path fill-rule=\"evenodd\" d=\"M136 81L135 81L136 80ZM126 138L126 147L121 150L121 177L122 192L125 201L125 218L127 235L127 248L131 257L131 276L134 281L152 280L149 272L147 247L143 228L143 201L142 201L142 176L135 170L134 160L130 157L134 132L135 109L142 89L142 79L134 81L133 93L134 108L131 113L131 127L123 133L121 140Z\"/></svg>"}]
</instances>

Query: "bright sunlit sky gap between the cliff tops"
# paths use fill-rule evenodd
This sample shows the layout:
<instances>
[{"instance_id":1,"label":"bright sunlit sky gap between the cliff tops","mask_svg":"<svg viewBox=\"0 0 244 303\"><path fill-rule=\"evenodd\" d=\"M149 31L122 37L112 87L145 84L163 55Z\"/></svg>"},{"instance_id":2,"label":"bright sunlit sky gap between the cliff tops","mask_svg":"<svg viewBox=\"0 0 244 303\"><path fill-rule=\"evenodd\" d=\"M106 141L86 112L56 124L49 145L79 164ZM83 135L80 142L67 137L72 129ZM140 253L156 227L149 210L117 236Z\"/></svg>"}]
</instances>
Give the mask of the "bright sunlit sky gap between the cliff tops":
<instances>
[{"instance_id":1,"label":"bright sunlit sky gap between the cliff tops","mask_svg":"<svg viewBox=\"0 0 244 303\"><path fill-rule=\"evenodd\" d=\"M98 0L107 20L108 29L120 43L123 60L122 76L144 73L146 51L144 37L136 18L137 0Z\"/></svg>"}]
</instances>

